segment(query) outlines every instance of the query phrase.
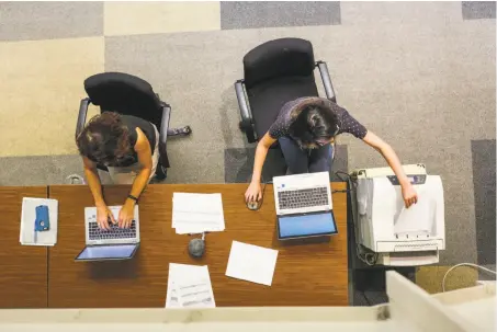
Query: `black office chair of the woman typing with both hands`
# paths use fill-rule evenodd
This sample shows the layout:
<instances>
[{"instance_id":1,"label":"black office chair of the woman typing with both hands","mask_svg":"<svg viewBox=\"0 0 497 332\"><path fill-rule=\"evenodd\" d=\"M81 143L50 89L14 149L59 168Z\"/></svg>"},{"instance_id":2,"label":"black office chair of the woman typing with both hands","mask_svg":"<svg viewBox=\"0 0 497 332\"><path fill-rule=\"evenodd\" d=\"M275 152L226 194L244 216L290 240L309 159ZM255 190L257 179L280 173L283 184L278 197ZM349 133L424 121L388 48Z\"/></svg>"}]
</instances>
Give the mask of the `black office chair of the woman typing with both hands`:
<instances>
[{"instance_id":1,"label":"black office chair of the woman typing with both hands","mask_svg":"<svg viewBox=\"0 0 497 332\"><path fill-rule=\"evenodd\" d=\"M188 136L192 131L190 126L170 129L171 106L162 102L151 85L138 77L123 72L98 73L84 80L84 91L88 98L82 99L79 105L76 137L84 128L90 103L100 106L101 113L112 111L146 119L156 125L159 131L160 156L156 179L166 179L170 167L166 149L168 136ZM98 164L97 168L109 171L103 164Z\"/></svg>"}]
</instances>

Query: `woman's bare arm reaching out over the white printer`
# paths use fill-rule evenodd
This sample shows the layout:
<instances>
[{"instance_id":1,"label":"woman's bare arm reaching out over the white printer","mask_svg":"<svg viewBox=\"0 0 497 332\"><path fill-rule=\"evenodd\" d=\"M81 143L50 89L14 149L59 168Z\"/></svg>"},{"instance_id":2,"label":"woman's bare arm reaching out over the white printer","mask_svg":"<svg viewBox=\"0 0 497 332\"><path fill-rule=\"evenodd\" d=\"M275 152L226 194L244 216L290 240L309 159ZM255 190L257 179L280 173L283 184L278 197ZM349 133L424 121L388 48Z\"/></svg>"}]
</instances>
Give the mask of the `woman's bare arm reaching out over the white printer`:
<instances>
[{"instance_id":1,"label":"woman's bare arm reaching out over the white printer","mask_svg":"<svg viewBox=\"0 0 497 332\"><path fill-rule=\"evenodd\" d=\"M406 207L411 206L418 202L418 195L410 183L409 178L407 178L406 173L402 168L400 160L398 159L397 154L395 153L394 149L382 140L380 137L374 135L372 131L368 130L366 135L363 138L364 142L369 146L374 148L376 151L382 153L383 158L385 158L388 165L394 171L395 175L397 175L398 182L400 183L404 202Z\"/></svg>"}]
</instances>

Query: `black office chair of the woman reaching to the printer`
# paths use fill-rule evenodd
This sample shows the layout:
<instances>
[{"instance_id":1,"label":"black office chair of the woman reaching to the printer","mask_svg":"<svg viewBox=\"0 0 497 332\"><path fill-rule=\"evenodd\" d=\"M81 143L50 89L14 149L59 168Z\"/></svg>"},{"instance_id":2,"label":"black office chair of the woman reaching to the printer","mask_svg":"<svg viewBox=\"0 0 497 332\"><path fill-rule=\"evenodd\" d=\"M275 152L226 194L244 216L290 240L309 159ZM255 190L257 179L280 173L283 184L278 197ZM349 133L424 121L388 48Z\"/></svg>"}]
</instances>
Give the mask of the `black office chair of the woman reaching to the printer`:
<instances>
[{"instance_id":1,"label":"black office chair of the woman reaching to the printer","mask_svg":"<svg viewBox=\"0 0 497 332\"><path fill-rule=\"evenodd\" d=\"M314 69L319 69L326 96L336 102L325 61L314 61L313 45L301 38L261 44L244 57L244 79L235 83L240 129L258 141L274 123L281 107L301 96L317 96ZM278 147L278 142L272 148Z\"/></svg>"}]
</instances>

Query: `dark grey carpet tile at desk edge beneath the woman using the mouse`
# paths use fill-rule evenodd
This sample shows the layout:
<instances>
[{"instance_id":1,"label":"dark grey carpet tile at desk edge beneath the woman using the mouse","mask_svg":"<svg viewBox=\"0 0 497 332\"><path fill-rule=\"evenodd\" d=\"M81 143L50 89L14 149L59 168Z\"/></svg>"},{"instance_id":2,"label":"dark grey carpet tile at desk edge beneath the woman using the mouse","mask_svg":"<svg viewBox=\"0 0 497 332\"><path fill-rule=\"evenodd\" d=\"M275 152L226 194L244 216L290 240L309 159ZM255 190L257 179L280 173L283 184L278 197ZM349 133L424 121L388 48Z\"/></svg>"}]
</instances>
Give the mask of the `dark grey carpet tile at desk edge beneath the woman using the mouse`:
<instances>
[{"instance_id":1,"label":"dark grey carpet tile at desk edge beneath the woman using the mouse","mask_svg":"<svg viewBox=\"0 0 497 332\"><path fill-rule=\"evenodd\" d=\"M348 152L347 146L337 146L335 161L331 169L330 180L334 182L341 181L335 172L348 171ZM224 153L225 182L226 183L246 183L250 182L253 158L256 153L255 147L249 148L228 148ZM273 176L284 175L286 167L283 153L280 149L270 149L262 170L264 181L271 180Z\"/></svg>"}]
</instances>

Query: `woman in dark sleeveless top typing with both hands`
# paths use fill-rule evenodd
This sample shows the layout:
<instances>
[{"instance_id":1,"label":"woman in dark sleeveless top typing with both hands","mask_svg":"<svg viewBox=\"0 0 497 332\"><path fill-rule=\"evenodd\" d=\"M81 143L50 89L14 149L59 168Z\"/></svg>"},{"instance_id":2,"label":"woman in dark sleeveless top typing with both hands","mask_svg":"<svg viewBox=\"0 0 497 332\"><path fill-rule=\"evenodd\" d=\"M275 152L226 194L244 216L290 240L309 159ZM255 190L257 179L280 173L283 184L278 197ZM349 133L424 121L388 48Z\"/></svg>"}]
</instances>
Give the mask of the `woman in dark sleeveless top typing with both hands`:
<instances>
[{"instance_id":1,"label":"woman in dark sleeveless top typing with both hands","mask_svg":"<svg viewBox=\"0 0 497 332\"><path fill-rule=\"evenodd\" d=\"M110 229L109 220L129 227L138 196L156 173L159 161L156 126L139 117L104 112L89 121L76 142L95 202L99 227ZM103 199L98 163L108 168L113 183L132 184L117 221Z\"/></svg>"}]
</instances>

